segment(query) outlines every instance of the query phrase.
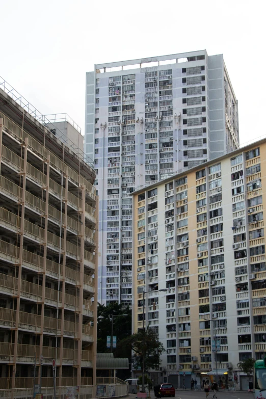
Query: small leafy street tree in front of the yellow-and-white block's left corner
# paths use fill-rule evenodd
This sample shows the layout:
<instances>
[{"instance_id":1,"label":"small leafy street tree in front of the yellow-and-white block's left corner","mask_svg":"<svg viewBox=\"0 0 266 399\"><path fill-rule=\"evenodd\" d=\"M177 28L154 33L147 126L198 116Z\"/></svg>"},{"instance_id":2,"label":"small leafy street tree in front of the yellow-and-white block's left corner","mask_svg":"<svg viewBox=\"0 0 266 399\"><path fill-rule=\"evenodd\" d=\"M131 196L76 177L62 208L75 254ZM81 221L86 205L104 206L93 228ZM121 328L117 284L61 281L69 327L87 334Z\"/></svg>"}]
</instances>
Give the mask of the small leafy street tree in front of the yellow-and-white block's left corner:
<instances>
[{"instance_id":1,"label":"small leafy street tree in front of the yellow-and-white block's left corner","mask_svg":"<svg viewBox=\"0 0 266 399\"><path fill-rule=\"evenodd\" d=\"M135 368L142 369L142 374L151 368L159 368L161 364L161 355L165 352L162 342L158 341L157 334L148 326L147 330L141 329L136 334L130 335L123 339L120 345L130 347L134 351L132 356L132 364ZM142 391L144 391L144 382L142 383Z\"/></svg>"}]
</instances>

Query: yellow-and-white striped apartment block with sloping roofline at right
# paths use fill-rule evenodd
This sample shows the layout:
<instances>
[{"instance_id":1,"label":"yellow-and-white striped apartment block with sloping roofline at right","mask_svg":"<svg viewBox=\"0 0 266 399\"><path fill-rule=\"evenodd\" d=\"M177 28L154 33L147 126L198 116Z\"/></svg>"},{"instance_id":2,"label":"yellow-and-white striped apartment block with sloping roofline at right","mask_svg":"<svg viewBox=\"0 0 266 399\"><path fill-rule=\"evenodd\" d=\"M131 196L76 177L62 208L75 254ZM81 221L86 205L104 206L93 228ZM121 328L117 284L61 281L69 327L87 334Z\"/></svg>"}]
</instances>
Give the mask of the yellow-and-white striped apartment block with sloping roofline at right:
<instances>
[{"instance_id":1,"label":"yellow-and-white striped apartment block with sloping roofline at right","mask_svg":"<svg viewBox=\"0 0 266 399\"><path fill-rule=\"evenodd\" d=\"M237 363L264 356L265 154L263 139L134 193L134 331L145 291L166 349L154 381L217 374L244 389Z\"/></svg>"}]
</instances>

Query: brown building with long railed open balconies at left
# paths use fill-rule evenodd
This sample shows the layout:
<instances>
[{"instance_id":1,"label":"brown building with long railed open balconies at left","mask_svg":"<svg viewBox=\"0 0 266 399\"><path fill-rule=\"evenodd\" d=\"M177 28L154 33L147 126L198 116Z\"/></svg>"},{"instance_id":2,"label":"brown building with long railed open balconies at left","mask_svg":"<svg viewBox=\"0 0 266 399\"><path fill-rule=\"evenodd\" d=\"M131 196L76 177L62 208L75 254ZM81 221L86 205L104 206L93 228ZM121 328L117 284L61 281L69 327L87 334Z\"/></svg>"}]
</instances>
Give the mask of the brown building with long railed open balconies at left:
<instances>
[{"instance_id":1,"label":"brown building with long railed open balconies at left","mask_svg":"<svg viewBox=\"0 0 266 399\"><path fill-rule=\"evenodd\" d=\"M0 388L53 386L53 360L95 384L96 174L32 115L0 90Z\"/></svg>"}]
</instances>

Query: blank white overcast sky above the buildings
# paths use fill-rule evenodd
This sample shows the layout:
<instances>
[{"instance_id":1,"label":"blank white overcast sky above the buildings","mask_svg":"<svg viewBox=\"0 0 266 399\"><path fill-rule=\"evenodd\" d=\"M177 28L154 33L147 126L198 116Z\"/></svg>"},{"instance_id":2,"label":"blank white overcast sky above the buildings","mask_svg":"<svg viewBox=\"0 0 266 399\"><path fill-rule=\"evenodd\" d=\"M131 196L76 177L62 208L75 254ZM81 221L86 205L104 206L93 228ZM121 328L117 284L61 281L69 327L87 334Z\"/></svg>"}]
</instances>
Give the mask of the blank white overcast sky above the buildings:
<instances>
[{"instance_id":1,"label":"blank white overcast sky above the buildings","mask_svg":"<svg viewBox=\"0 0 266 399\"><path fill-rule=\"evenodd\" d=\"M85 74L94 64L206 48L224 54L246 143L265 135L261 7L261 0L0 0L0 76L42 114L68 113L84 134Z\"/></svg>"}]
</instances>

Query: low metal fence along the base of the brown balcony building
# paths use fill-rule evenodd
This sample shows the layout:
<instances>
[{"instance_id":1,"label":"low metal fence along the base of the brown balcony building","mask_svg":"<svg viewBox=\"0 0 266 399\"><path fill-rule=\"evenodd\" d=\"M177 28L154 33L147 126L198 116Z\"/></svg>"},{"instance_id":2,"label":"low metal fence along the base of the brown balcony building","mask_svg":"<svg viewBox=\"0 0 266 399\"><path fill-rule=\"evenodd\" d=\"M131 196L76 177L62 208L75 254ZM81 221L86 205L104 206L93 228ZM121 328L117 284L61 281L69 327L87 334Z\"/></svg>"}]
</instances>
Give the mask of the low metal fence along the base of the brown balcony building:
<instances>
[{"instance_id":1,"label":"low metal fence along the base of the brown balcony building","mask_svg":"<svg viewBox=\"0 0 266 399\"><path fill-rule=\"evenodd\" d=\"M77 394L78 399L108 399L111 397L123 397L128 394L128 384L102 384L83 385L80 387L56 387L56 399L67 399L71 391ZM54 399L54 388L42 388L43 399ZM20 399L33 398L33 388L0 389L0 398Z\"/></svg>"}]
</instances>

